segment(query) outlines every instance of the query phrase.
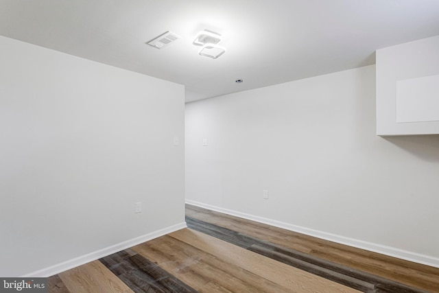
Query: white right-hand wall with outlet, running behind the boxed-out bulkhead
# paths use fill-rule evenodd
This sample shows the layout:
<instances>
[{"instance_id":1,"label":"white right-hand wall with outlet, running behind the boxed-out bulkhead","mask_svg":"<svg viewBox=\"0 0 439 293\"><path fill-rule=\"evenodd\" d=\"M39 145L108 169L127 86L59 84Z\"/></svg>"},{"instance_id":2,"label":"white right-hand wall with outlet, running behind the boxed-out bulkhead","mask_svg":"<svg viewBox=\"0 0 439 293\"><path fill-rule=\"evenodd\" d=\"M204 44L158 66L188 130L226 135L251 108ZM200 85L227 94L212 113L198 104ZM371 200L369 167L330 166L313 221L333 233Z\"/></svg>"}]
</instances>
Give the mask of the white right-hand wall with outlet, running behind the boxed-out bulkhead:
<instances>
[{"instance_id":1,"label":"white right-hand wall with outlet, running behind the boxed-out bulkhead","mask_svg":"<svg viewBox=\"0 0 439 293\"><path fill-rule=\"evenodd\" d=\"M439 136L376 136L375 65L188 103L185 152L187 202L439 266Z\"/></svg>"}]
</instances>

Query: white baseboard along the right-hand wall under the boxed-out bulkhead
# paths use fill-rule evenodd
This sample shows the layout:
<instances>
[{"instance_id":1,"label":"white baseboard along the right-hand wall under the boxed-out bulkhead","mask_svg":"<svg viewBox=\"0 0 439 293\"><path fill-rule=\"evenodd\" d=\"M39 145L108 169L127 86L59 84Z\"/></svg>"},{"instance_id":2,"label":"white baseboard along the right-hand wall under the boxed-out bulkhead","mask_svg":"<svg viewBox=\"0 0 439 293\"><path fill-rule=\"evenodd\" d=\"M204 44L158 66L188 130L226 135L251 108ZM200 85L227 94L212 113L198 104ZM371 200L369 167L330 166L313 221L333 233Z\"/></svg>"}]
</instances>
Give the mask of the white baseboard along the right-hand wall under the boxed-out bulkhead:
<instances>
[{"instance_id":1,"label":"white baseboard along the right-hand wall under the boxed-out bulkhead","mask_svg":"<svg viewBox=\"0 0 439 293\"><path fill-rule=\"evenodd\" d=\"M329 240L331 242L336 242L339 244L353 246L356 248L369 250L369 251L372 251L374 253L381 253L382 255L388 255L390 257L397 257L399 259L405 259L407 261L413 261L416 263L425 264L427 266L433 266L433 267L439 268L439 259L437 257L431 257L429 255L421 255L419 253L413 253L413 252L408 251L408 250L403 250L403 249L394 248L394 247L390 247L390 246L384 246L381 244L375 244L372 242L366 242L363 240L358 240L358 239L353 239L353 238L344 237L344 236L340 236L340 235L335 235L335 234L331 234L331 233L327 233L327 232L323 232L323 231L314 230L311 228L305 228L302 226L296 226L296 225L288 224L285 222L280 222L280 221L271 220L268 218L259 217L257 215L250 215L247 213L241 213L239 211L233 211L230 209L223 209L221 207L215 207L215 206L212 206L210 204L204 204L202 202L195 202L193 200L186 200L186 203L195 205L197 207L202 207L204 209L211 209L212 211L219 211L220 213L226 213L228 215L234 215L234 216L239 217L239 218L252 220L254 222L260 222L260 223L268 224L268 225L275 226L278 228L283 228L285 230L294 231L294 232L302 233L302 234L313 236L313 237L318 237L320 239Z\"/></svg>"}]
</instances>

